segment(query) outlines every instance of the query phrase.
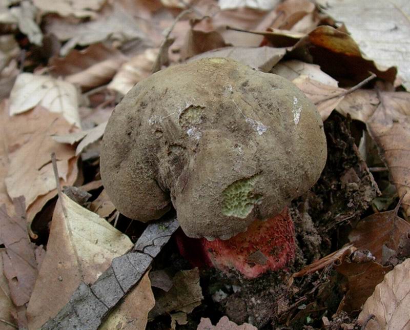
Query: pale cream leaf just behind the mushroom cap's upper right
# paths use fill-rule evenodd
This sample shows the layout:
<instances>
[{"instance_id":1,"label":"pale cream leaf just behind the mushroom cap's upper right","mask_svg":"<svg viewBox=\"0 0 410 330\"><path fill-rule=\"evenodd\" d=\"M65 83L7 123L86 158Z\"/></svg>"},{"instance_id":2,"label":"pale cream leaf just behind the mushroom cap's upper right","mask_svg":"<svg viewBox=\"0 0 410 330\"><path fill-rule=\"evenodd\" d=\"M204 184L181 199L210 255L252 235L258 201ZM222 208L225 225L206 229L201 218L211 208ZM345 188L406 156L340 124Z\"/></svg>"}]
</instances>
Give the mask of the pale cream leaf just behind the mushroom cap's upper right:
<instances>
[{"instance_id":1,"label":"pale cream leaf just behind the mushroom cap's upper right","mask_svg":"<svg viewBox=\"0 0 410 330\"><path fill-rule=\"evenodd\" d=\"M304 63L297 59L280 61L273 67L271 72L291 81L302 75L307 76L309 79L319 81L321 84L338 87L337 80L320 70L318 65Z\"/></svg>"}]
</instances>

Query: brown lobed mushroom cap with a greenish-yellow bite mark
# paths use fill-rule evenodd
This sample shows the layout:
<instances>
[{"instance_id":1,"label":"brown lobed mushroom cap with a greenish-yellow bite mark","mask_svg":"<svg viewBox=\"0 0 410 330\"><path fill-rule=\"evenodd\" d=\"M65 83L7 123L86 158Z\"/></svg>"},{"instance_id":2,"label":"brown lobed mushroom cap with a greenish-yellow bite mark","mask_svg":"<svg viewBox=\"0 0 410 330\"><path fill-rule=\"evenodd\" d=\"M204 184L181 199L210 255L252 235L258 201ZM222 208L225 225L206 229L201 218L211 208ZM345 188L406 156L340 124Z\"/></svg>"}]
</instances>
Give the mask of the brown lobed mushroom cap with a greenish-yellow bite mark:
<instances>
[{"instance_id":1,"label":"brown lobed mushroom cap with a greenish-yellow bite mark","mask_svg":"<svg viewBox=\"0 0 410 330\"><path fill-rule=\"evenodd\" d=\"M177 211L190 237L228 239L317 181L326 139L290 81L229 58L172 66L115 108L101 178L117 209L148 221Z\"/></svg>"}]
</instances>

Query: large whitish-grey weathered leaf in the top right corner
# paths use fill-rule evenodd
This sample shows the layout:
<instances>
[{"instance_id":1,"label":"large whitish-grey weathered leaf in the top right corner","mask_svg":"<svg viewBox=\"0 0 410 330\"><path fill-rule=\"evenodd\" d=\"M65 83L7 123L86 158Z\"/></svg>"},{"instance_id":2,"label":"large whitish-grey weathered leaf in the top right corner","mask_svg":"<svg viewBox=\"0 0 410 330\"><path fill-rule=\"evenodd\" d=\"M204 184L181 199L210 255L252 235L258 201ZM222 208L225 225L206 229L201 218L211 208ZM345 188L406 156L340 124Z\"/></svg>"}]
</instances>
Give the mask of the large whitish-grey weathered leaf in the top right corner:
<instances>
[{"instance_id":1,"label":"large whitish-grey weathered leaf in the top right corner","mask_svg":"<svg viewBox=\"0 0 410 330\"><path fill-rule=\"evenodd\" d=\"M327 1L325 11L342 22L366 57L385 67L398 67L410 89L410 6L407 0ZM357 15L360 13L360 19Z\"/></svg>"}]
</instances>

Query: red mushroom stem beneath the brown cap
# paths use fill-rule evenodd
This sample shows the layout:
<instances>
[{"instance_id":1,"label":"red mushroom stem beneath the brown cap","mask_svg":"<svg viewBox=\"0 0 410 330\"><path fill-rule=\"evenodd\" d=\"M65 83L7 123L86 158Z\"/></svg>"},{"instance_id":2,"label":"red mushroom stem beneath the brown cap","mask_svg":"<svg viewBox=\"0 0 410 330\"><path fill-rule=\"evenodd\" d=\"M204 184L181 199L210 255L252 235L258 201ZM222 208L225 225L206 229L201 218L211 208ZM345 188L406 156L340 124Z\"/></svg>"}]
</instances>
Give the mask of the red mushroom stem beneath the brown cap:
<instances>
[{"instance_id":1,"label":"red mushroom stem beneath the brown cap","mask_svg":"<svg viewBox=\"0 0 410 330\"><path fill-rule=\"evenodd\" d=\"M276 271L295 256L295 227L288 208L266 221L255 220L248 230L228 240L176 235L178 249L193 266L214 266L223 272L236 270L256 278Z\"/></svg>"}]
</instances>

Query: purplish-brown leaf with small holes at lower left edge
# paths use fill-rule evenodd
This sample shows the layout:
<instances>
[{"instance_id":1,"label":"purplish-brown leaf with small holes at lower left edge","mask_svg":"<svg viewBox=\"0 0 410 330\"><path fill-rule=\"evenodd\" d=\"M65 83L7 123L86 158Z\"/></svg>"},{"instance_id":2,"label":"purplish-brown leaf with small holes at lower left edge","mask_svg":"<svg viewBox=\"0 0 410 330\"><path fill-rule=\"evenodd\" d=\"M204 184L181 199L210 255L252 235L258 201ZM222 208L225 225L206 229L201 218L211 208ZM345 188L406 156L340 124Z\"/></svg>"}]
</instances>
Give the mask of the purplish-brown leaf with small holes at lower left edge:
<instances>
[{"instance_id":1,"label":"purplish-brown leaf with small holes at lower left edge","mask_svg":"<svg viewBox=\"0 0 410 330\"><path fill-rule=\"evenodd\" d=\"M5 205L0 207L0 241L6 246L3 255L4 274L9 281L11 299L16 306L26 304L37 278L37 263L27 233L24 197L13 200L15 215L7 214Z\"/></svg>"}]
</instances>

